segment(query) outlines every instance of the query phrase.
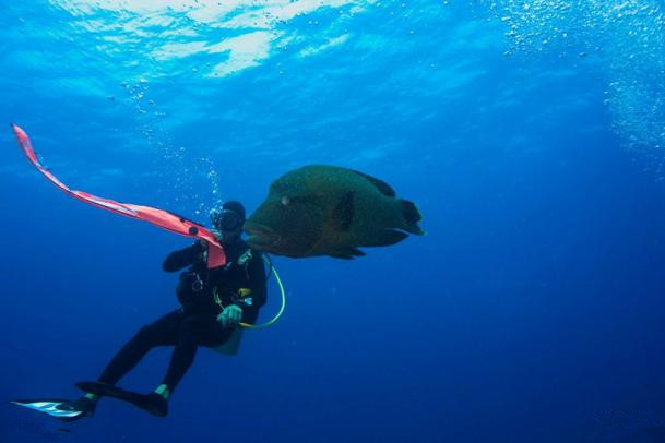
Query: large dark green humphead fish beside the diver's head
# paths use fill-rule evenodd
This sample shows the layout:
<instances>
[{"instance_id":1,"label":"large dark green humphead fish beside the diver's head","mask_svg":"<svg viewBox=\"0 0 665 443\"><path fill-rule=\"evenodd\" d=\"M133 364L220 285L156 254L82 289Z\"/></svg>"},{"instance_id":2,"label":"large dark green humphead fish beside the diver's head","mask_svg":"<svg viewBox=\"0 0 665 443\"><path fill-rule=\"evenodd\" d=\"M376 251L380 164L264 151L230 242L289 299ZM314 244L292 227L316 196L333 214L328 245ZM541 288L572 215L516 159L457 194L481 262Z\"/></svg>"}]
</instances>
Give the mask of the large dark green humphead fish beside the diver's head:
<instances>
[{"instance_id":1,"label":"large dark green humphead fish beside the diver's head","mask_svg":"<svg viewBox=\"0 0 665 443\"><path fill-rule=\"evenodd\" d=\"M365 255L358 247L384 247L423 235L416 205L385 182L352 169L305 166L271 187L245 223L250 247L292 258Z\"/></svg>"}]
</instances>

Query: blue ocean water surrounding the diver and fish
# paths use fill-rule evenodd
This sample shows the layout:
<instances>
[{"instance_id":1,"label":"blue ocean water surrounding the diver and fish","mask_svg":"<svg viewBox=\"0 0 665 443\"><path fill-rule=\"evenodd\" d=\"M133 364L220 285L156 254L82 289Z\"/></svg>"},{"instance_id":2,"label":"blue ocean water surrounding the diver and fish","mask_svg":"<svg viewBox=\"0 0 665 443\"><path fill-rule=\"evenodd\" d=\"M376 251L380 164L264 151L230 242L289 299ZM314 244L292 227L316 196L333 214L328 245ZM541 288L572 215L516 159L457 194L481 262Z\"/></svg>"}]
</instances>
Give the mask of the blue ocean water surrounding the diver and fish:
<instances>
[{"instance_id":1,"label":"blue ocean water surrounding the diver and fish","mask_svg":"<svg viewBox=\"0 0 665 443\"><path fill-rule=\"evenodd\" d=\"M333 164L428 232L275 258L285 315L201 349L165 419L107 400L63 432L5 405L1 441L665 441L661 1L0 7L0 120L72 188L206 223ZM0 146L0 398L74 397L177 307L161 263L189 240L59 193L9 125Z\"/></svg>"}]
</instances>

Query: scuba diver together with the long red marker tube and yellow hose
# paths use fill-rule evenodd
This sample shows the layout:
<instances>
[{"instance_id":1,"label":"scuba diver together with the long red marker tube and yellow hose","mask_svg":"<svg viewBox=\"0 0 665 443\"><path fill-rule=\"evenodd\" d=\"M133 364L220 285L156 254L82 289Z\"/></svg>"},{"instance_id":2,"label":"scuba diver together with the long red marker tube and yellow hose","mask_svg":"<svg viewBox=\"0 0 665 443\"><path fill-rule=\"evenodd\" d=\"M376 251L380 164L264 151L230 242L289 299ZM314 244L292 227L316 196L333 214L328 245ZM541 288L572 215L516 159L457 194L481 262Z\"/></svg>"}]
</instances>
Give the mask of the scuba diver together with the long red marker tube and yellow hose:
<instances>
[{"instance_id":1,"label":"scuba diver together with the long red marker tube and yellow hose","mask_svg":"<svg viewBox=\"0 0 665 443\"><path fill-rule=\"evenodd\" d=\"M181 308L152 324L143 326L112 358L97 382L76 383L86 394L74 400L58 398L11 400L11 404L47 414L63 421L74 421L93 415L99 397L129 402L149 412L164 417L168 398L191 366L199 346L223 354L235 354L240 327L262 328L273 324L284 312L284 287L275 268L282 294L282 307L269 322L256 325L259 309L266 299L266 275L263 254L242 239L246 222L241 203L229 201L211 212L213 229L168 211L132 203L120 203L76 191L58 180L35 153L27 133L11 124L16 142L29 163L56 188L67 195L116 215L142 220L198 241L189 248L173 252L164 261L164 271L180 274L176 294ZM141 359L157 346L174 346L168 371L157 388L138 394L116 386Z\"/></svg>"}]
</instances>

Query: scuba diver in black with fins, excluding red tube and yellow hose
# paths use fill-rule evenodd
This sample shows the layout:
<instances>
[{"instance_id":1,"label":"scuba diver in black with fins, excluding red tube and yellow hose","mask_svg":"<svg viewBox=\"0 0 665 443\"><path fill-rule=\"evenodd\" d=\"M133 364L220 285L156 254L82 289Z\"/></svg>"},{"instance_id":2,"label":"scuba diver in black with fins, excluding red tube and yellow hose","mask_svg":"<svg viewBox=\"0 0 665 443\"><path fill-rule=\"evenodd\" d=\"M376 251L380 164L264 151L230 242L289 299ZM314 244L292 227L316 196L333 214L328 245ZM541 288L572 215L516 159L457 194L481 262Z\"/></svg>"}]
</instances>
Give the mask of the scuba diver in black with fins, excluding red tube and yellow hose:
<instances>
[{"instance_id":1,"label":"scuba diver in black with fins, excluding red tube and yellow hose","mask_svg":"<svg viewBox=\"0 0 665 443\"><path fill-rule=\"evenodd\" d=\"M229 201L211 213L214 232L224 247L225 266L209 270L205 240L170 253L166 272L180 274L176 294L181 308L143 326L111 359L97 382L78 383L86 394L73 402L54 404L51 414L66 421L92 416L97 400L110 396L133 404L154 416L167 415L168 399L194 360L197 348L226 344L240 322L253 324L265 303L265 268L261 252L240 238L246 214L242 204ZM150 394L116 387L141 359L157 346L174 346L166 375ZM24 405L27 406L27 405ZM49 412L50 414L50 412Z\"/></svg>"}]
</instances>

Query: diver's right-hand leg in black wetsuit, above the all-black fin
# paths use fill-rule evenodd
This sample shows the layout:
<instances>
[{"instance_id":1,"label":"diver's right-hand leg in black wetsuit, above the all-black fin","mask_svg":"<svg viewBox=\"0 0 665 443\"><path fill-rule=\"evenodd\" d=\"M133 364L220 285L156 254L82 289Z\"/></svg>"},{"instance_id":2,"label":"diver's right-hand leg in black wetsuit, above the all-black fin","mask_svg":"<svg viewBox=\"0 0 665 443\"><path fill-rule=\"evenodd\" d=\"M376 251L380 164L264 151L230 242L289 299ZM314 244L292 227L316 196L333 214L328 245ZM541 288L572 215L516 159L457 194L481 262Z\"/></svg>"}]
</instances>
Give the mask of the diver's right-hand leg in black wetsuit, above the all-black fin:
<instances>
[{"instance_id":1,"label":"diver's right-hand leg in black wetsuit, above the all-black fin","mask_svg":"<svg viewBox=\"0 0 665 443\"><path fill-rule=\"evenodd\" d=\"M188 316L180 324L178 340L174 348L168 371L159 388L166 390L165 398L176 388L189 367L194 361L200 345L216 346L223 344L233 328L222 327L213 314Z\"/></svg>"}]
</instances>

